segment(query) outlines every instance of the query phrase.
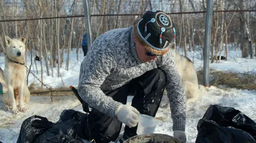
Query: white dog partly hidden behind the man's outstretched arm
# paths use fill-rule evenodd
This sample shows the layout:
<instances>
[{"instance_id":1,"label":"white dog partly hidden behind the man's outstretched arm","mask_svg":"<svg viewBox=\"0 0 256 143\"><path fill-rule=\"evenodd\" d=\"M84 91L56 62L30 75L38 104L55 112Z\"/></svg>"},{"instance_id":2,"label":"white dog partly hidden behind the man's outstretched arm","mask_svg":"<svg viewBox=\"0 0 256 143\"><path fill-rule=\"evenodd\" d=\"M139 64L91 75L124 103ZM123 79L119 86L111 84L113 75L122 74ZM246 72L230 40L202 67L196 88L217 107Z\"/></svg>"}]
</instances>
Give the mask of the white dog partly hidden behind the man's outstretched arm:
<instances>
[{"instance_id":1,"label":"white dog partly hidden behind the man's outstretched arm","mask_svg":"<svg viewBox=\"0 0 256 143\"><path fill-rule=\"evenodd\" d=\"M180 55L179 52L175 50L173 50L173 56L175 56L175 63L188 99L187 103L195 102L202 94L204 94L206 88L202 85L198 85L195 66L188 57ZM167 96L163 96L160 106L164 107L168 105L168 103L169 100Z\"/></svg>"}]
</instances>

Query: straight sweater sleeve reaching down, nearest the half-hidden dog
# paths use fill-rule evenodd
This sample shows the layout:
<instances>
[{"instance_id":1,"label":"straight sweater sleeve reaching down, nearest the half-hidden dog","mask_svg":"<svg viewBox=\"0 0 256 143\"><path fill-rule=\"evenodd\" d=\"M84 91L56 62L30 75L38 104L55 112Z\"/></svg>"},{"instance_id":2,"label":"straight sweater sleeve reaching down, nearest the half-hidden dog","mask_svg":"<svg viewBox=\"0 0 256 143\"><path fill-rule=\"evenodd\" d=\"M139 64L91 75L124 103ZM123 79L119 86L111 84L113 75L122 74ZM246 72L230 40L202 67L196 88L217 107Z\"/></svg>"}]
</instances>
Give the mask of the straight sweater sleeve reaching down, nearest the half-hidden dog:
<instances>
[{"instance_id":1,"label":"straight sweater sleeve reaching down, nearest the half-hidden dog","mask_svg":"<svg viewBox=\"0 0 256 143\"><path fill-rule=\"evenodd\" d=\"M166 91L170 100L173 130L185 131L187 97L171 51L164 56L163 65L160 68L166 73Z\"/></svg>"}]
</instances>

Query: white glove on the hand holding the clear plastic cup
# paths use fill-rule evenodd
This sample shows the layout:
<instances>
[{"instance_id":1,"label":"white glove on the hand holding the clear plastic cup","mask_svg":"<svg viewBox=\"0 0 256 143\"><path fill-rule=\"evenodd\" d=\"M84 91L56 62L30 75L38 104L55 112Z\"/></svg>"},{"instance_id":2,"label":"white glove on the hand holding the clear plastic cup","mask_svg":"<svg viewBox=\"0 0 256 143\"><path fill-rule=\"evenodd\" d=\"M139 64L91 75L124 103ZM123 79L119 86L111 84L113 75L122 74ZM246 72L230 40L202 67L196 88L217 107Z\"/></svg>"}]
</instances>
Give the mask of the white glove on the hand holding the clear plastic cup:
<instances>
[{"instance_id":1,"label":"white glove on the hand holding the clear plastic cup","mask_svg":"<svg viewBox=\"0 0 256 143\"><path fill-rule=\"evenodd\" d=\"M119 121L126 124L130 128L136 126L140 118L140 112L131 105L120 105L115 114Z\"/></svg>"}]
</instances>

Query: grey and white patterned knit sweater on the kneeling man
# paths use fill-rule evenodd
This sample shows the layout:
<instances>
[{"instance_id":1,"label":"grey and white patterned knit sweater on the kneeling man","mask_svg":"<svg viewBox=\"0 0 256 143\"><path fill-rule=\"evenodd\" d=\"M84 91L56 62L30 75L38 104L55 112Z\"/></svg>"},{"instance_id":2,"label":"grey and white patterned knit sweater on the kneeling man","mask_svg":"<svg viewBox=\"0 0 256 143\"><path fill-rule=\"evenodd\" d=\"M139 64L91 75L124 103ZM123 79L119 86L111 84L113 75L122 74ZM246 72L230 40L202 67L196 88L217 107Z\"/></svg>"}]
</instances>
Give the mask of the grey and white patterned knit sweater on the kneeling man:
<instances>
[{"instance_id":1,"label":"grey and white patterned knit sweater on the kneeling man","mask_svg":"<svg viewBox=\"0 0 256 143\"><path fill-rule=\"evenodd\" d=\"M186 94L172 50L164 56L158 56L156 61L141 63L132 37L133 27L127 27L103 33L93 42L81 64L79 95L90 107L115 117L115 112L122 103L106 96L103 91L122 87L143 73L159 67L166 73L173 130L185 131Z\"/></svg>"}]
</instances>

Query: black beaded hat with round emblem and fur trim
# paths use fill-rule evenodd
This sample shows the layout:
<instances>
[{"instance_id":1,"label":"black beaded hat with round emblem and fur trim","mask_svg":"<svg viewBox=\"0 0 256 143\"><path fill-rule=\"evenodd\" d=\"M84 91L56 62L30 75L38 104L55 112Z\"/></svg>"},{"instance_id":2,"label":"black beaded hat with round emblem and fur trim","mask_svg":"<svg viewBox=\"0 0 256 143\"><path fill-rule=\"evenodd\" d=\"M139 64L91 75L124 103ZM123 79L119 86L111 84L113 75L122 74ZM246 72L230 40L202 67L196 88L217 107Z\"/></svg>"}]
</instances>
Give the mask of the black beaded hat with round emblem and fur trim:
<instances>
[{"instance_id":1,"label":"black beaded hat with round emblem and fur trim","mask_svg":"<svg viewBox=\"0 0 256 143\"><path fill-rule=\"evenodd\" d=\"M175 28L171 18L163 11L151 10L145 12L134 22L134 36L146 47L147 52L163 55L170 49L170 43L175 43Z\"/></svg>"}]
</instances>

